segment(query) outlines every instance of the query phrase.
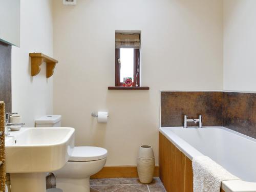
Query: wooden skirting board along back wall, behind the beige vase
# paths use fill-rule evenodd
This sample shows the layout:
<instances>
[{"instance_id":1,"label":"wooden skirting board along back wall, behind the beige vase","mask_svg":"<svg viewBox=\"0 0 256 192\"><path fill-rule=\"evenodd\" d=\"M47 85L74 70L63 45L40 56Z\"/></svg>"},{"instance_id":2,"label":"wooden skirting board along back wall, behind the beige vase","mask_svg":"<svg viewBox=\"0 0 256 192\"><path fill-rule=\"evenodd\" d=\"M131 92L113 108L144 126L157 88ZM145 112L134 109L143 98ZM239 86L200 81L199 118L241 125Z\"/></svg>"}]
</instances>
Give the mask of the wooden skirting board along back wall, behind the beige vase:
<instances>
[{"instance_id":1,"label":"wooden skirting board along back wall, behind the beige vase","mask_svg":"<svg viewBox=\"0 0 256 192\"><path fill-rule=\"evenodd\" d=\"M155 167L154 177L159 177L159 168ZM91 176L92 179L100 178L138 178L136 166L105 166L100 172Z\"/></svg>"}]
</instances>

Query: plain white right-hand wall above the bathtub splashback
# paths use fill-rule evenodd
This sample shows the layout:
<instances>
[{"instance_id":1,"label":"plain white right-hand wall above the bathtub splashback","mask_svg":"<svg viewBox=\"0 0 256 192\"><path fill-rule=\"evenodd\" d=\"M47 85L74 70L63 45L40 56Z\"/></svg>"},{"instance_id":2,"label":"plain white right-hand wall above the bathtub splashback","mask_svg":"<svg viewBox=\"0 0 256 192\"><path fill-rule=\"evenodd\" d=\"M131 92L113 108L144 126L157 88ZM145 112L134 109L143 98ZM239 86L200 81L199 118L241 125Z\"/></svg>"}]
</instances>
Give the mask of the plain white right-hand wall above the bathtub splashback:
<instances>
[{"instance_id":1,"label":"plain white right-hand wall above the bathtub splashback","mask_svg":"<svg viewBox=\"0 0 256 192\"><path fill-rule=\"evenodd\" d=\"M224 0L224 90L256 91L255 7L255 0Z\"/></svg>"}]
</instances>

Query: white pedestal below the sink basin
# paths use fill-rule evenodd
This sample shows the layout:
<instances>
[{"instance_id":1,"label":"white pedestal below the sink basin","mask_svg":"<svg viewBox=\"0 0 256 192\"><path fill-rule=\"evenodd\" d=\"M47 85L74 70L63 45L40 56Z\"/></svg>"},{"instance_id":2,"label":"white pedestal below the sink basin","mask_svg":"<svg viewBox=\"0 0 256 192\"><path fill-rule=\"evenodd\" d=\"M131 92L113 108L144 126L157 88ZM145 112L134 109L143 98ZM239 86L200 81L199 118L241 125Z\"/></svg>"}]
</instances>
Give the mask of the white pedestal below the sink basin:
<instances>
[{"instance_id":1,"label":"white pedestal below the sink basin","mask_svg":"<svg viewBox=\"0 0 256 192\"><path fill-rule=\"evenodd\" d=\"M10 174L12 192L46 192L46 173Z\"/></svg>"}]
</instances>

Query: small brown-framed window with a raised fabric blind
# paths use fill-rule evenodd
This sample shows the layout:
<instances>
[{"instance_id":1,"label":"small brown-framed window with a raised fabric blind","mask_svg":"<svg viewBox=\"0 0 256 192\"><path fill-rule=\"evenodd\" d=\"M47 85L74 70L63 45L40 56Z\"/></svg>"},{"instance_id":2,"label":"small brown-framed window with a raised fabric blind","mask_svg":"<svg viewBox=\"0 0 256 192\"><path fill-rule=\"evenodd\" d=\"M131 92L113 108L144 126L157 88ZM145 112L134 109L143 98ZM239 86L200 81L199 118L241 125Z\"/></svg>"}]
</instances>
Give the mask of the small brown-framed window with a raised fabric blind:
<instances>
[{"instance_id":1,"label":"small brown-framed window with a raised fabric blind","mask_svg":"<svg viewBox=\"0 0 256 192\"><path fill-rule=\"evenodd\" d=\"M140 34L116 33L116 80L115 86L123 86L124 77L132 77L133 84L140 86Z\"/></svg>"}]
</instances>

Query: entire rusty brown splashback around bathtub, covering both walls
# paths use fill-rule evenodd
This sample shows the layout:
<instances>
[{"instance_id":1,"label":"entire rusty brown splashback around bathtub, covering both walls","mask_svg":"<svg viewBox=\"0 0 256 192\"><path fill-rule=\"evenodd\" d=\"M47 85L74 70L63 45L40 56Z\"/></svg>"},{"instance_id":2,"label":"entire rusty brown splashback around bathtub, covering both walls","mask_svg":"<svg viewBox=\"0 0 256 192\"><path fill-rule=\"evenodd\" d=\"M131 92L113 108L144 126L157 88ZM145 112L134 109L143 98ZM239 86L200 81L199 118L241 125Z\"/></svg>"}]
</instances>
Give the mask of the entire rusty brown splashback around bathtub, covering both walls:
<instances>
[{"instance_id":1,"label":"entire rusty brown splashback around bathtub, covering both walls","mask_svg":"<svg viewBox=\"0 0 256 192\"><path fill-rule=\"evenodd\" d=\"M161 126L183 126L184 115L256 138L255 93L161 92Z\"/></svg>"}]
</instances>

